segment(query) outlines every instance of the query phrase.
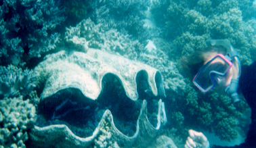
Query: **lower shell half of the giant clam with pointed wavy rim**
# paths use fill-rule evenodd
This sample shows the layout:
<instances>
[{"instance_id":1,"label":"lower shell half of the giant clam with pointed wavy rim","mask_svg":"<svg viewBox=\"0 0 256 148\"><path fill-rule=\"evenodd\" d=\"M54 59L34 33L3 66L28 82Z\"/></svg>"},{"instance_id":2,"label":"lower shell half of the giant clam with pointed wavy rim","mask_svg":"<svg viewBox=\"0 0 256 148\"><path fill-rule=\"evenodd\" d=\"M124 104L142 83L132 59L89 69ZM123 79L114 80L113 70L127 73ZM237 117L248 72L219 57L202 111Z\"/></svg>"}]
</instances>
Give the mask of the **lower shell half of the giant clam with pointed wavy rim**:
<instances>
[{"instance_id":1,"label":"lower shell half of the giant clam with pointed wavy rim","mask_svg":"<svg viewBox=\"0 0 256 148\"><path fill-rule=\"evenodd\" d=\"M30 137L37 145L43 145L43 147L88 147L91 143L95 142L97 137L102 137L100 136L102 135L102 132L109 132L104 135L104 138L108 140L113 139L119 143L120 147L131 147L132 145L135 145L136 147L155 147L153 146L153 141L156 141L161 124L165 124L166 122L163 122L163 120L165 120L165 109L163 104L164 103L160 99L158 101L158 122L157 126L154 127L148 121L147 102L146 100L143 101L140 116L137 120L136 132L132 137L127 137L114 126L112 114L108 109L102 116L102 120L91 137L77 137L63 124L46 126L43 128L35 126L30 132ZM172 140L165 139L165 141L162 140L161 143L170 141ZM169 143L169 147L177 148L173 142Z\"/></svg>"}]
</instances>

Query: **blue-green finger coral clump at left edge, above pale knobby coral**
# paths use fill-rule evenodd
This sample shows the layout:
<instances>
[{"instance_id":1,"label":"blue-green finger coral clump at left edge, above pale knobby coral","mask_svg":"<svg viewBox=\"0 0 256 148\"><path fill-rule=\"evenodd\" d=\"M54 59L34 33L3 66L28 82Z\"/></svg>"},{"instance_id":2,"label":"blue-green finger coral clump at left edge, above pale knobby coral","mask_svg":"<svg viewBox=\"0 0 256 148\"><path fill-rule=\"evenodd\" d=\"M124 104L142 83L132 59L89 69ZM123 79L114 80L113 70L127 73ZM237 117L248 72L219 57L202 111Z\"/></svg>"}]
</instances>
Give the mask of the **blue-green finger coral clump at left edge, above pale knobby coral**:
<instances>
[{"instance_id":1,"label":"blue-green finger coral clump at left edge, above pale knobby coral","mask_svg":"<svg viewBox=\"0 0 256 148\"><path fill-rule=\"evenodd\" d=\"M0 66L0 97L27 95L36 87L37 76L33 70L22 70L16 66Z\"/></svg>"}]
</instances>

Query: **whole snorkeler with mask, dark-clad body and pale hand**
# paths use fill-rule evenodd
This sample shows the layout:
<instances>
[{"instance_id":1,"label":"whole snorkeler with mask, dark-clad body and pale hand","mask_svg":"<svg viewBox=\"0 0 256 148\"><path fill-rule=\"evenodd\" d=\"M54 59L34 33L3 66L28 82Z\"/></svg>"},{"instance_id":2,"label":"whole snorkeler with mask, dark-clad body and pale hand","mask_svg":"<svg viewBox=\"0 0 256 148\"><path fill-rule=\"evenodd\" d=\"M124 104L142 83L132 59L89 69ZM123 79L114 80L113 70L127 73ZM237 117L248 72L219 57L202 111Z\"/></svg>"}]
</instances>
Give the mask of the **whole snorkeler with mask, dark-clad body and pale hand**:
<instances>
[{"instance_id":1,"label":"whole snorkeler with mask, dark-clad body and pale hand","mask_svg":"<svg viewBox=\"0 0 256 148\"><path fill-rule=\"evenodd\" d=\"M228 94L233 103L238 103L240 99L237 90L240 88L251 107L251 124L245 142L235 147L256 147L256 61L241 68L238 53L228 41L208 40L207 45L209 47L183 57L182 65L194 76L194 84L204 93L215 87L215 91ZM188 132L186 148L210 147L202 132Z\"/></svg>"}]
</instances>

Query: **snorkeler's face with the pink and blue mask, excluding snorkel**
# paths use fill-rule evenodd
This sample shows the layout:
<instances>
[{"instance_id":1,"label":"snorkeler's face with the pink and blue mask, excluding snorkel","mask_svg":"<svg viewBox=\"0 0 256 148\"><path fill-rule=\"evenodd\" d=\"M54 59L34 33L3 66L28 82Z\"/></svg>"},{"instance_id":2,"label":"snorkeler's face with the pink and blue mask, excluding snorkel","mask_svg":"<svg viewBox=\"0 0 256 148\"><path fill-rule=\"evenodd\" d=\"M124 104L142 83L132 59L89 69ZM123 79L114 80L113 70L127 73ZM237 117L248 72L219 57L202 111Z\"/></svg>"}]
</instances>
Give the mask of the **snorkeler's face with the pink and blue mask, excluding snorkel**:
<instances>
[{"instance_id":1,"label":"snorkeler's face with the pink and blue mask, excluding snorkel","mask_svg":"<svg viewBox=\"0 0 256 148\"><path fill-rule=\"evenodd\" d=\"M215 51L204 56L204 65L194 76L194 84L204 93L213 89L218 93L225 94L234 72L232 62L226 59L225 55Z\"/></svg>"}]
</instances>

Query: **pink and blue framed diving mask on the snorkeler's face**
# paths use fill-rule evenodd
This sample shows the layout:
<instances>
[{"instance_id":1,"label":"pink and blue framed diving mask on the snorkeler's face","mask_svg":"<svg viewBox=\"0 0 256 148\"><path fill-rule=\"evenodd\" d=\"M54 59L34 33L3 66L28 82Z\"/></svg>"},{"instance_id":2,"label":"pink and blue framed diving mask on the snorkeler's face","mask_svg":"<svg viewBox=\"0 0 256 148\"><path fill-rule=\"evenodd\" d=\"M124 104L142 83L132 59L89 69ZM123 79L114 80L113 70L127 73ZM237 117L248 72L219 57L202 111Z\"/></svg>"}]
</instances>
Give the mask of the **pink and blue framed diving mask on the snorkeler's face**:
<instances>
[{"instance_id":1,"label":"pink and blue framed diving mask on the snorkeler's face","mask_svg":"<svg viewBox=\"0 0 256 148\"><path fill-rule=\"evenodd\" d=\"M193 82L196 87L203 93L206 93L213 89L216 84L225 81L226 74L232 67L230 60L231 58L228 56L224 57L221 54L215 55L215 57L202 66L196 76L194 76Z\"/></svg>"}]
</instances>

